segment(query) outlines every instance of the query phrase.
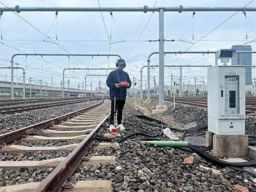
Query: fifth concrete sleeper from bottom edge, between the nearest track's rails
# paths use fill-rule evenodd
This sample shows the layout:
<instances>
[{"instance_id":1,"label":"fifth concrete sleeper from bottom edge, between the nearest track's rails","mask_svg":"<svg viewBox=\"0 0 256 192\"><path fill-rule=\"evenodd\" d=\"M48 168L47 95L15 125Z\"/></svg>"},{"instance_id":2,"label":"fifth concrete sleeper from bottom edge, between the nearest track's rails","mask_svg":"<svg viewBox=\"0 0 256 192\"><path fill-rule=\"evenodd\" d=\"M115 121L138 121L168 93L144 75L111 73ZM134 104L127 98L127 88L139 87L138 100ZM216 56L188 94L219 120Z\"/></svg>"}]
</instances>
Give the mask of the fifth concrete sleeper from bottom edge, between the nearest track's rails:
<instances>
[{"instance_id":1,"label":"fifth concrete sleeper from bottom edge, between the nearest track's rails","mask_svg":"<svg viewBox=\"0 0 256 192\"><path fill-rule=\"evenodd\" d=\"M56 131L51 129L46 129L44 132L48 134L50 137L72 137L72 136L79 136L84 134L87 131L92 131L93 129L86 129L82 131Z\"/></svg>"}]
</instances>

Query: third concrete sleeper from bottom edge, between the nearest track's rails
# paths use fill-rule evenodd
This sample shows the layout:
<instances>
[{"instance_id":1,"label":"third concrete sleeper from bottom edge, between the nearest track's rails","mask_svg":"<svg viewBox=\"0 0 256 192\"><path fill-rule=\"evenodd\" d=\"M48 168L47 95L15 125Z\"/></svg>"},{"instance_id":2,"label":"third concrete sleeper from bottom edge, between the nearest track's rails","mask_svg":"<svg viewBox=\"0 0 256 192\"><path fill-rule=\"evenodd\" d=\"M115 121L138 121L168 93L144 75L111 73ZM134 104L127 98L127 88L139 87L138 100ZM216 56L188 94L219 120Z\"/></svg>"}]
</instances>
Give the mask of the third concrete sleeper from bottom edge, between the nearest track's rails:
<instances>
[{"instance_id":1,"label":"third concrete sleeper from bottom edge, between the nearest track's rails","mask_svg":"<svg viewBox=\"0 0 256 192\"><path fill-rule=\"evenodd\" d=\"M8 154L25 154L26 152L52 152L74 150L78 144L64 145L59 147L28 147L23 145L7 145L1 148L3 152Z\"/></svg>"}]
</instances>

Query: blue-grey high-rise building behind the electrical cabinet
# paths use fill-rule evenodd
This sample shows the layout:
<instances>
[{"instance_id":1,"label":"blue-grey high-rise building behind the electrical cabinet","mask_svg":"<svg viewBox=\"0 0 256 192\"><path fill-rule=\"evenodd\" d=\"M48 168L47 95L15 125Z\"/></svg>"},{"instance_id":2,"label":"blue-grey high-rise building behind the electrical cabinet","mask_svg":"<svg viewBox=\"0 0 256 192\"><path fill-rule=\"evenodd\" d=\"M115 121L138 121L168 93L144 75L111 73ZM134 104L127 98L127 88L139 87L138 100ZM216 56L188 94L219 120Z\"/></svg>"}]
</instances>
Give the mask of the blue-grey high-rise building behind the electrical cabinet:
<instances>
[{"instance_id":1,"label":"blue-grey high-rise building behind the electrical cabinet","mask_svg":"<svg viewBox=\"0 0 256 192\"><path fill-rule=\"evenodd\" d=\"M232 45L232 49L236 51L252 51L251 45ZM237 53L232 58L231 65L252 65L251 53ZM252 84L252 68L245 68L245 84Z\"/></svg>"}]
</instances>

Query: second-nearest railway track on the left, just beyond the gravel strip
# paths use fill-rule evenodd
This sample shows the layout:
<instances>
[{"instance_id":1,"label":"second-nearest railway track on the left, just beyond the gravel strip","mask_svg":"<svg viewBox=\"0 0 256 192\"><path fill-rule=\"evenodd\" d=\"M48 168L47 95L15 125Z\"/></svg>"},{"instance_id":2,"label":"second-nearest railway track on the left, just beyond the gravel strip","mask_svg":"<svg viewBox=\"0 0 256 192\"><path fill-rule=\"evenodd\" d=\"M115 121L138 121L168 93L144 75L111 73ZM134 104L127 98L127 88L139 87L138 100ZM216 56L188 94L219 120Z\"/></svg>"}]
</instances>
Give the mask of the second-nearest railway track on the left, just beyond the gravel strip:
<instances>
[{"instance_id":1,"label":"second-nearest railway track on the left, just beyond the gravel strip","mask_svg":"<svg viewBox=\"0 0 256 192\"><path fill-rule=\"evenodd\" d=\"M79 102L86 102L88 99L90 100L100 100L102 97L88 97L83 99L72 99L72 100L60 100L59 102L48 102L48 103L40 103L40 104L26 104L22 106L14 106L7 108L0 108L0 113L2 114L12 114L12 113L21 113L23 111L30 111L33 109L42 109L42 108L50 108L54 106L63 106L65 104L75 104Z\"/></svg>"}]
</instances>

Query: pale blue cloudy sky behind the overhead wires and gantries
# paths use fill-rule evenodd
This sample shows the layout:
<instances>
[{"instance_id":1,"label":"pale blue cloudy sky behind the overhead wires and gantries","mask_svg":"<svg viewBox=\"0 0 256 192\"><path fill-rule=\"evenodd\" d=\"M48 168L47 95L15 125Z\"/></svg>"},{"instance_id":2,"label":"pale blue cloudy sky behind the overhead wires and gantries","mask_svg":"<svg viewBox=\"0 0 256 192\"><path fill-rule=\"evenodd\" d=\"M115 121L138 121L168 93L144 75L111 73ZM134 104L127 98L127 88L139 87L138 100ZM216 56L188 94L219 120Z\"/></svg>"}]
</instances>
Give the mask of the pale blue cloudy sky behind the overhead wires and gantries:
<instances>
[{"instance_id":1,"label":"pale blue cloudy sky behind the overhead wires and gantries","mask_svg":"<svg viewBox=\"0 0 256 192\"><path fill-rule=\"evenodd\" d=\"M39 0L0 0L0 7L163 7L163 6L232 6L255 7L256 1L168 1L168 0L86 0L86 1L39 1ZM165 12L164 51L217 51L230 49L232 45L251 45L256 51L256 17L254 12ZM63 53L63 54L119 54L125 59L130 78L140 78L140 68L147 65L151 52L159 51L159 14L157 12L4 12L1 17L0 67L9 67L10 59L17 53ZM232 17L231 17L232 16ZM102 19L103 17L103 19ZM228 19L230 17L230 19ZM227 20L228 19L228 20ZM226 21L225 21L226 20ZM224 22L225 21L225 22ZM223 23L223 24L221 24ZM221 25L220 25L221 24ZM219 26L220 25L220 26ZM106 26L106 28L105 28ZM218 26L218 27L217 27ZM216 28L217 27L217 28ZM209 33L211 31L211 33ZM202 38L204 36L204 38ZM202 40L198 41L200 38ZM153 40L153 41L152 41ZM156 40L156 41L154 41ZM174 40L174 41L168 41ZM109 45L109 41L111 44ZM194 45L193 45L194 44ZM191 46L193 45L193 46ZM110 47L110 49L109 49ZM255 65L256 54L252 56ZM26 83L29 77L40 79L51 85L60 86L64 68L115 68L117 57L106 56L17 56L15 63L26 70ZM158 65L158 55L151 57L151 65ZM164 65L214 65L211 54L166 54ZM17 65L18 66L18 65ZM82 87L84 76L88 74L109 74L111 70L67 70L65 86ZM179 68L165 68L164 83L170 84L170 74L179 76ZM15 82L22 81L22 71L14 72ZM143 69L143 86L146 83L147 69ZM151 70L156 76L158 68ZM184 68L184 81L193 83L196 77L207 81L207 68ZM256 76L255 69L252 76ZM175 77L178 78L178 77ZM0 70L0 81L10 81L10 70ZM93 89L100 84L106 86L106 76L88 77ZM136 80L137 81L137 80ZM138 80L139 81L139 80ZM88 84L89 84L88 83ZM154 83L151 81L151 86ZM87 88L88 90L90 87Z\"/></svg>"}]
</instances>

